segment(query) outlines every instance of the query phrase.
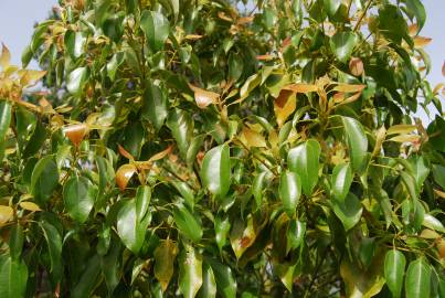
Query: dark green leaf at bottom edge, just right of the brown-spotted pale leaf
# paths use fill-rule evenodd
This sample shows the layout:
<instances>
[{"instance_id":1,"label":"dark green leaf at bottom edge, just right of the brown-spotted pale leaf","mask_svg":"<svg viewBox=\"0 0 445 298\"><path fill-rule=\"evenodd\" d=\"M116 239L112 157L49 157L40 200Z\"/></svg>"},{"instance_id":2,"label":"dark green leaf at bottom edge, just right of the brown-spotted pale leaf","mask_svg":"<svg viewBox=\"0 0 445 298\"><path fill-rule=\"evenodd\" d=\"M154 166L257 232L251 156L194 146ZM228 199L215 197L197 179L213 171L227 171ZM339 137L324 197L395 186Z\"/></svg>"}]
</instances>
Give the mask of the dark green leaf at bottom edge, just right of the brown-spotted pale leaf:
<instances>
[{"instance_id":1,"label":"dark green leaf at bottom edge, just right of the brown-spotted pale leaf","mask_svg":"<svg viewBox=\"0 0 445 298\"><path fill-rule=\"evenodd\" d=\"M205 262L212 267L218 294L224 298L235 298L237 285L236 280L233 278L232 269L213 258L205 258Z\"/></svg>"}]
</instances>

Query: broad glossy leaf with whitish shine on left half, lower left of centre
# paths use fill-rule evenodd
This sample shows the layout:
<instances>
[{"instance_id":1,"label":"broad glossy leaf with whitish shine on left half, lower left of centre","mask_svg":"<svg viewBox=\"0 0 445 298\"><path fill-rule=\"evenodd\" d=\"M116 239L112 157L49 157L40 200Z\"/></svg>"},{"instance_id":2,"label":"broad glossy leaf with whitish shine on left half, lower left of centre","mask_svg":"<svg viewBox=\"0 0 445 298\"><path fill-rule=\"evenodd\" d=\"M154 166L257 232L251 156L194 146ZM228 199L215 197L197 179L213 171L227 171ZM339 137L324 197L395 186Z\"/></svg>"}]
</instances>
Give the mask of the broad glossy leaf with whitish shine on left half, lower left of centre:
<instances>
[{"instance_id":1,"label":"broad glossy leaf with whitish shine on left half, lower left of centre","mask_svg":"<svg viewBox=\"0 0 445 298\"><path fill-rule=\"evenodd\" d=\"M134 254L138 254L142 247L148 221L139 221L138 211L140 206L136 206L135 200L129 200L124 203L117 214L117 234Z\"/></svg>"}]
</instances>

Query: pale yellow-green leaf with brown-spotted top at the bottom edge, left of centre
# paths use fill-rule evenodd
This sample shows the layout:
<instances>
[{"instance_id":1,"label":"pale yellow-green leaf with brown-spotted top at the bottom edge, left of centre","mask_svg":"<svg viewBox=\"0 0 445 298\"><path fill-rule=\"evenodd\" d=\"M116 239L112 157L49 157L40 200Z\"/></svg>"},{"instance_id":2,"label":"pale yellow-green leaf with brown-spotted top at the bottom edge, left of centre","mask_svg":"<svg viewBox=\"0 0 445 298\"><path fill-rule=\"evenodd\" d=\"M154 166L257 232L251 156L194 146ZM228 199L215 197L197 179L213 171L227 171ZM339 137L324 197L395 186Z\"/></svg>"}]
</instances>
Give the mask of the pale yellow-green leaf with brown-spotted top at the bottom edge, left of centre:
<instances>
[{"instance_id":1,"label":"pale yellow-green leaf with brown-spotted top at the bottom edge, left of centre","mask_svg":"<svg viewBox=\"0 0 445 298\"><path fill-rule=\"evenodd\" d=\"M184 298L194 298L202 286L202 256L187 246L179 257L179 290Z\"/></svg>"}]
</instances>

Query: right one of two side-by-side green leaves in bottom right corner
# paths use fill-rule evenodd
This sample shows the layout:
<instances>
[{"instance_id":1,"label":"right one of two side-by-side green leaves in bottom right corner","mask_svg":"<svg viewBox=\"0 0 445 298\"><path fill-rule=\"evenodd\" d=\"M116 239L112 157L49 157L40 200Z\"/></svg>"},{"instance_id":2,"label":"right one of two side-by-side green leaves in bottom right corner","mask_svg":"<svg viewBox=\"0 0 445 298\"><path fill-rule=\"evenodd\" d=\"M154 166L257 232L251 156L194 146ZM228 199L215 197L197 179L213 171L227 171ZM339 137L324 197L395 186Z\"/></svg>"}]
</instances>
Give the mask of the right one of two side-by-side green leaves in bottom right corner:
<instances>
[{"instance_id":1,"label":"right one of two side-by-side green leaves in bottom right corner","mask_svg":"<svg viewBox=\"0 0 445 298\"><path fill-rule=\"evenodd\" d=\"M431 267L421 257L410 263L405 278L406 298L430 298Z\"/></svg>"}]
</instances>

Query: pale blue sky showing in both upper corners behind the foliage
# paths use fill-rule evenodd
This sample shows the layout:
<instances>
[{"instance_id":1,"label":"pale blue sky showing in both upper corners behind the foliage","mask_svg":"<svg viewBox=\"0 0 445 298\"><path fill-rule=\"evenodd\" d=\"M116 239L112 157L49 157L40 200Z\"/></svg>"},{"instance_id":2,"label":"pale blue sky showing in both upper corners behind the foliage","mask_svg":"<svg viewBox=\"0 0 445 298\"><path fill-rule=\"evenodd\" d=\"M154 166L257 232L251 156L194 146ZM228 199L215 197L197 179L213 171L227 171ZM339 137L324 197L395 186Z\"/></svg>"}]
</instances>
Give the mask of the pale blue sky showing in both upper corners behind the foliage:
<instances>
[{"instance_id":1,"label":"pale blue sky showing in both upper corners behind the foliage","mask_svg":"<svg viewBox=\"0 0 445 298\"><path fill-rule=\"evenodd\" d=\"M0 42L10 49L14 64L20 64L20 56L30 42L33 24L44 20L56 3L56 0L0 0ZM423 3L427 19L421 35L433 39L425 51L433 64L428 79L434 87L437 83L445 82L441 71L445 61L445 34L442 31L445 24L445 1L423 0ZM36 66L33 64L31 67Z\"/></svg>"}]
</instances>

